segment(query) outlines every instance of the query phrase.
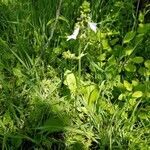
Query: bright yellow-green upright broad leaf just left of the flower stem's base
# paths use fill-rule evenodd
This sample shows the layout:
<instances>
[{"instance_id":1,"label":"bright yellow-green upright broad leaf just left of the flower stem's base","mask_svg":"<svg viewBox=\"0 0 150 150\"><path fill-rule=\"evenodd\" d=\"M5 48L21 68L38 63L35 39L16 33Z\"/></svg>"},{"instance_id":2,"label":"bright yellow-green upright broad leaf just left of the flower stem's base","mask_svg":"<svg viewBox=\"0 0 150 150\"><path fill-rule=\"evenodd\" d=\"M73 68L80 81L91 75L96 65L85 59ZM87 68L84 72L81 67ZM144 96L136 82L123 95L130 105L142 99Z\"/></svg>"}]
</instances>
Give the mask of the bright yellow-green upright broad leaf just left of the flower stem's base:
<instances>
[{"instance_id":1,"label":"bright yellow-green upright broad leaf just left of the flower stem's base","mask_svg":"<svg viewBox=\"0 0 150 150\"><path fill-rule=\"evenodd\" d=\"M73 94L75 94L77 90L75 75L69 70L67 70L64 75L66 77L64 84L68 86L68 88Z\"/></svg>"}]
</instances>

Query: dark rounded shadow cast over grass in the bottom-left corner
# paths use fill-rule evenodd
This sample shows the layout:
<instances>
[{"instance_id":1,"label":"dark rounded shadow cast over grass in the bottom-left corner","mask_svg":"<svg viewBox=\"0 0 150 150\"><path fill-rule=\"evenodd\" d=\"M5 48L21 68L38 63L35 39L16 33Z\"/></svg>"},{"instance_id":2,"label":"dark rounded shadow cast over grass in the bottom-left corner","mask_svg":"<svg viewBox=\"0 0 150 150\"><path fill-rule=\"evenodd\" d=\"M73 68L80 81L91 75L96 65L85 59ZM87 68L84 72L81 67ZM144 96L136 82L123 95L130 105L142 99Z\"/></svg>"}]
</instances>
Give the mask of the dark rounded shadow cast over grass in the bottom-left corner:
<instances>
[{"instance_id":1,"label":"dark rounded shadow cast over grass in the bottom-left corner","mask_svg":"<svg viewBox=\"0 0 150 150\"><path fill-rule=\"evenodd\" d=\"M15 125L17 129L14 129L14 131L10 130L10 122L3 124L5 129L7 129L3 132L4 134L1 132L0 149L65 149L65 131L69 125L69 117L59 110L52 111L54 109L52 108L53 106L51 107L47 103L38 103L35 104L28 115L26 113L26 118L22 120L24 122L23 127L17 127L16 120L13 120L14 114L11 116L12 112L9 111L8 115L10 118L8 121L12 122L12 125ZM1 123L4 123L5 116L1 116L3 118ZM21 121L19 115L17 119Z\"/></svg>"}]
</instances>

